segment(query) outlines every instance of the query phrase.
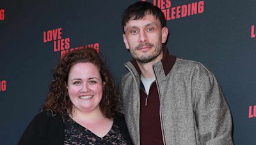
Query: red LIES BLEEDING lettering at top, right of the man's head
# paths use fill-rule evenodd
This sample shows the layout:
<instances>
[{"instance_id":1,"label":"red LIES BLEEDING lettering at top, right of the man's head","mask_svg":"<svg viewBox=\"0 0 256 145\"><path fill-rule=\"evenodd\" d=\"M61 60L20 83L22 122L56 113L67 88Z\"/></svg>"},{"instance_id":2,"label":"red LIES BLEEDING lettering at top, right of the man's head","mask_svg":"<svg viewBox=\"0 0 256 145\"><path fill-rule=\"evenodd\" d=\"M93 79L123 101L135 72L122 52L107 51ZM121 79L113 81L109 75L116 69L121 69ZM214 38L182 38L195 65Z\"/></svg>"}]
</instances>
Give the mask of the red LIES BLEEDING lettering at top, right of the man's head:
<instances>
[{"instance_id":1,"label":"red LIES BLEEDING lettering at top, right of the man's head","mask_svg":"<svg viewBox=\"0 0 256 145\"><path fill-rule=\"evenodd\" d=\"M153 0L153 4L163 11L166 20L204 13L204 1L172 6L172 1L170 0Z\"/></svg>"}]
</instances>

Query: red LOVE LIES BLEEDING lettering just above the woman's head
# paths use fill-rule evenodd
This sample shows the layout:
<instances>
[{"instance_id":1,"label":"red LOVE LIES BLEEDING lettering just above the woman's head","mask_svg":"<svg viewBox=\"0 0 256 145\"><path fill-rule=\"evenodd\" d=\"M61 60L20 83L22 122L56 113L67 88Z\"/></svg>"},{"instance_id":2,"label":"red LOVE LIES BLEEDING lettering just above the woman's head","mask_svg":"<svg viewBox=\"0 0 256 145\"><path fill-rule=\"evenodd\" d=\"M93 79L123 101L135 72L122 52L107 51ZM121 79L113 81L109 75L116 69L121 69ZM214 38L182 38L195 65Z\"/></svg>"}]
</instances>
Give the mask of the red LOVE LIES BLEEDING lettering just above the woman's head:
<instances>
[{"instance_id":1,"label":"red LOVE LIES BLEEDING lettering just above the woman's head","mask_svg":"<svg viewBox=\"0 0 256 145\"><path fill-rule=\"evenodd\" d=\"M70 38L62 38L62 28L56 28L43 32L43 42L49 43L53 41L53 52L60 52L61 58L72 50L79 48L94 48L99 52L99 43L93 43L85 46L78 46L76 48L70 48Z\"/></svg>"}]
</instances>

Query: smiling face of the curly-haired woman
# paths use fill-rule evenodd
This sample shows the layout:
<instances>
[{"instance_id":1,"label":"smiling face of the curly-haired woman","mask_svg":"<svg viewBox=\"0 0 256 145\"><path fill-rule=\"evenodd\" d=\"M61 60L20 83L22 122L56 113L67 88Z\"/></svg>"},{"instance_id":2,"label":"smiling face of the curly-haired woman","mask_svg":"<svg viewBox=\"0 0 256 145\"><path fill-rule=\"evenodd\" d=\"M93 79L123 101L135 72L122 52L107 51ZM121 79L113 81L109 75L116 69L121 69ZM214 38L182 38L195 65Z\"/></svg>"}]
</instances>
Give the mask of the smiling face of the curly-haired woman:
<instances>
[{"instance_id":1,"label":"smiling face of the curly-haired woman","mask_svg":"<svg viewBox=\"0 0 256 145\"><path fill-rule=\"evenodd\" d=\"M99 69L90 62L79 62L70 68L68 74L68 95L73 109L91 112L100 109L102 99L102 79Z\"/></svg>"}]
</instances>

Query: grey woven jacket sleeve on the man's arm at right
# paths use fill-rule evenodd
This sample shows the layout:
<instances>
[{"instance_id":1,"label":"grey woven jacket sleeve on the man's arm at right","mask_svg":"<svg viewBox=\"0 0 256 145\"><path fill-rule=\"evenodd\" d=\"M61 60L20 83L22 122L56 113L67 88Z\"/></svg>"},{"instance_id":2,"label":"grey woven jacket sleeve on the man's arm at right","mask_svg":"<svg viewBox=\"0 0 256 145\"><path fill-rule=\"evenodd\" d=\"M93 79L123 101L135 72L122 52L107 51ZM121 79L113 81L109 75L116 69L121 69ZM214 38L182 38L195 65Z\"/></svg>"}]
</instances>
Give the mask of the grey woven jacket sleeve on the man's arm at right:
<instances>
[{"instance_id":1,"label":"grey woven jacket sleeve on the man's arm at right","mask_svg":"<svg viewBox=\"0 0 256 145\"><path fill-rule=\"evenodd\" d=\"M198 78L194 112L201 144L233 144L230 109L212 72Z\"/></svg>"}]
</instances>

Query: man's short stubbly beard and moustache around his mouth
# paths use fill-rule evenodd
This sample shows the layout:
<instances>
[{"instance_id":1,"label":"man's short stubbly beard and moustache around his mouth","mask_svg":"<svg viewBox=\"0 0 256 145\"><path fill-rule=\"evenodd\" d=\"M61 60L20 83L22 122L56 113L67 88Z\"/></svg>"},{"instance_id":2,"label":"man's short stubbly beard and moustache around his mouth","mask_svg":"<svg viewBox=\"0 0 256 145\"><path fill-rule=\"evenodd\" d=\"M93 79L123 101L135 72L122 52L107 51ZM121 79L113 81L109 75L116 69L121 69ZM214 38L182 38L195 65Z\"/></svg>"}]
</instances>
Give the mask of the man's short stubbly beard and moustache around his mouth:
<instances>
[{"instance_id":1,"label":"man's short stubbly beard and moustache around his mouth","mask_svg":"<svg viewBox=\"0 0 256 145\"><path fill-rule=\"evenodd\" d=\"M140 43L138 46L135 47L134 52L136 52L136 50L140 49L143 46L155 47L156 50L154 51L154 53L150 55L141 55L140 57L137 57L135 54L132 54L132 57L138 62L141 62L142 64L151 62L152 60L156 59L156 57L158 57L162 52L162 43L157 43L157 46L155 46L152 43Z\"/></svg>"}]
</instances>

